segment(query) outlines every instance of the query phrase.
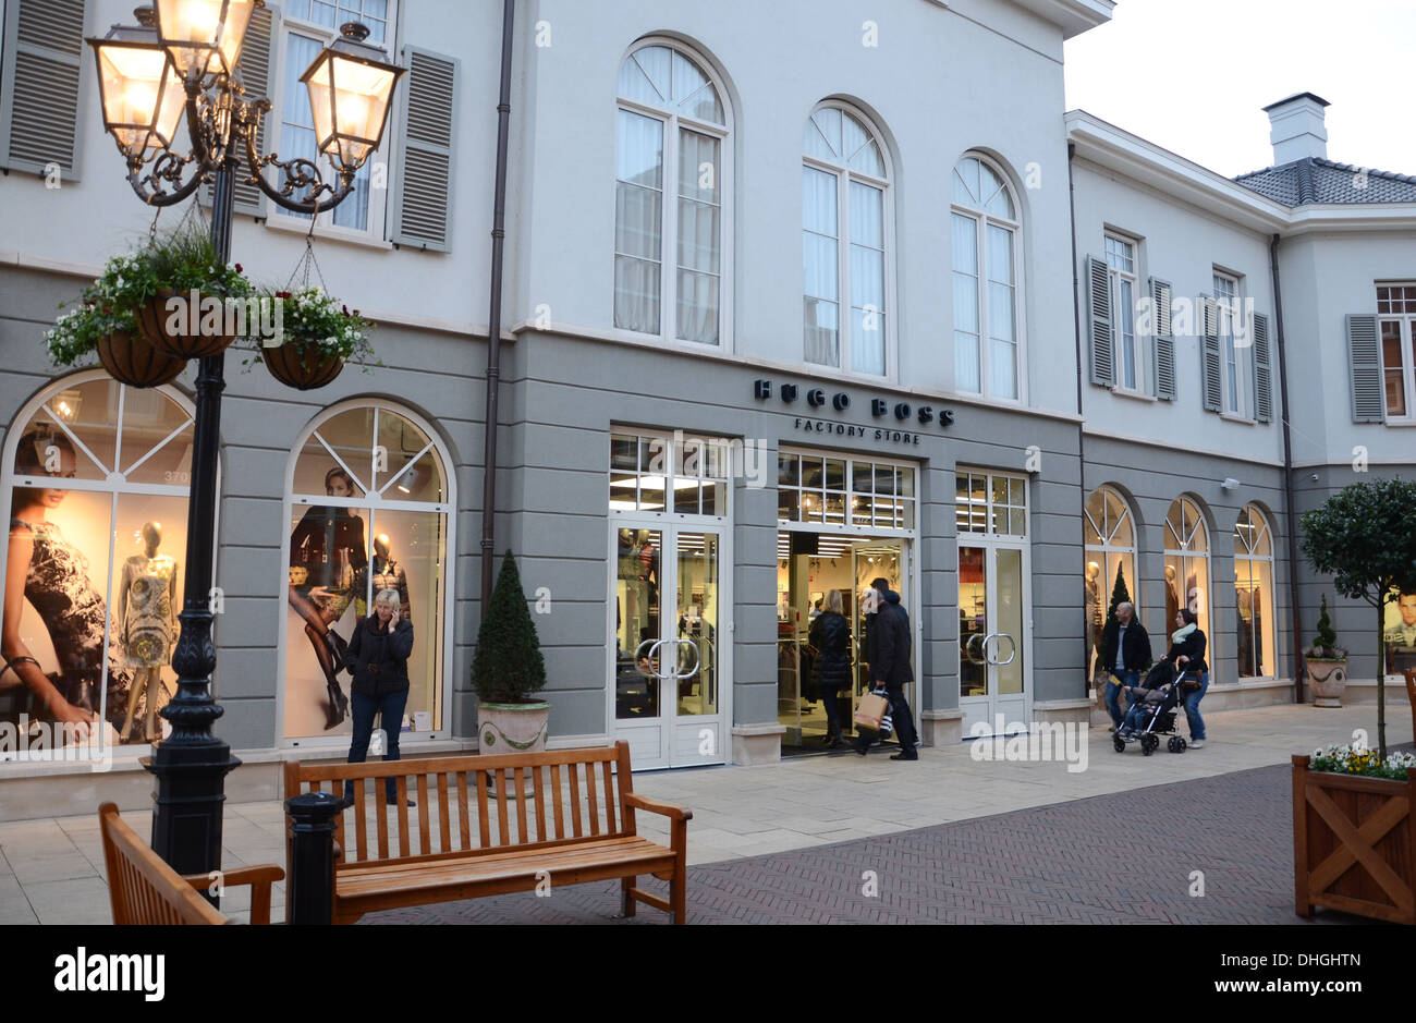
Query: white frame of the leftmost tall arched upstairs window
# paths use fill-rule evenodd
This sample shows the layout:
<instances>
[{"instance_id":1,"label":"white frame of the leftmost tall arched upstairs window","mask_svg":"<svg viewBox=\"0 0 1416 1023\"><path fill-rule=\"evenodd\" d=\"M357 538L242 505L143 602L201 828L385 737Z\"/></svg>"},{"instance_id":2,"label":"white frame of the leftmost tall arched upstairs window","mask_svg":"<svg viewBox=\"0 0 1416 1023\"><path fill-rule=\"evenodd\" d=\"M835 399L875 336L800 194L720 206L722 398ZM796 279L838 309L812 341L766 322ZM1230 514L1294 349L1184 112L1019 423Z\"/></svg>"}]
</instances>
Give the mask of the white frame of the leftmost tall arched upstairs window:
<instances>
[{"instance_id":1,"label":"white frame of the leftmost tall arched upstairs window","mask_svg":"<svg viewBox=\"0 0 1416 1023\"><path fill-rule=\"evenodd\" d=\"M708 81L712 84L718 94L718 105L722 106L722 125L715 125L709 120L700 120L698 118L690 118L678 111L673 111L664 106L653 106L637 99L627 99L619 95L619 69L624 67L624 61L633 57L640 50L647 50L650 47L666 47L668 50L677 51L685 60L692 62L695 68L704 72ZM728 89L724 85L722 78L718 75L716 68L712 61L707 60L697 50L685 47L678 40L668 38L667 35L646 35L624 51L620 62L615 65L616 72L616 88L615 88L615 157L619 159L619 111L629 111L630 113L639 113L644 118L653 118L658 120L664 128L664 166L663 179L660 183L660 224L658 224L658 333L643 333L639 330L632 330L630 327L620 327L615 324L615 298L613 298L613 265L610 268L610 327L616 334L624 339L633 339L641 341L644 337L658 337L660 340L674 344L684 346L692 351L701 351L704 349L715 349L718 351L732 351L732 251L733 251L733 231L732 231L732 210L733 210L733 191L732 191L732 103L728 102ZM678 336L678 130L688 129L700 135L711 135L718 139L718 341L690 341ZM617 179L616 179L617 180ZM673 188L673 196L670 196L670 188ZM673 201L670 201L673 200ZM613 220L613 217L612 217ZM624 255L613 245L615 256Z\"/></svg>"}]
</instances>

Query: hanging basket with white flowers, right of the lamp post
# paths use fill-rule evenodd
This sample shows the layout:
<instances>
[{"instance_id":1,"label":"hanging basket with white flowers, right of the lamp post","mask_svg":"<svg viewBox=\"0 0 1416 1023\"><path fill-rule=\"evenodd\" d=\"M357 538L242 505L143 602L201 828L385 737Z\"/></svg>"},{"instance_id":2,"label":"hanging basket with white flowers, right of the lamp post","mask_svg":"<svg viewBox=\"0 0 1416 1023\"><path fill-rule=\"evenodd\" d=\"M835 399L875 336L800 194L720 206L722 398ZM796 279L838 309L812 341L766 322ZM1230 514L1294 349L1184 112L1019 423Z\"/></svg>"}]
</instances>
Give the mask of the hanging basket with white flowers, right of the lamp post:
<instances>
[{"instance_id":1,"label":"hanging basket with white flowers, right of the lamp post","mask_svg":"<svg viewBox=\"0 0 1416 1023\"><path fill-rule=\"evenodd\" d=\"M253 339L255 354L248 361L263 363L286 387L324 387L340 375L344 363L365 363L374 353L368 339L374 324L321 288L269 290L261 302L273 303L276 334Z\"/></svg>"}]
</instances>

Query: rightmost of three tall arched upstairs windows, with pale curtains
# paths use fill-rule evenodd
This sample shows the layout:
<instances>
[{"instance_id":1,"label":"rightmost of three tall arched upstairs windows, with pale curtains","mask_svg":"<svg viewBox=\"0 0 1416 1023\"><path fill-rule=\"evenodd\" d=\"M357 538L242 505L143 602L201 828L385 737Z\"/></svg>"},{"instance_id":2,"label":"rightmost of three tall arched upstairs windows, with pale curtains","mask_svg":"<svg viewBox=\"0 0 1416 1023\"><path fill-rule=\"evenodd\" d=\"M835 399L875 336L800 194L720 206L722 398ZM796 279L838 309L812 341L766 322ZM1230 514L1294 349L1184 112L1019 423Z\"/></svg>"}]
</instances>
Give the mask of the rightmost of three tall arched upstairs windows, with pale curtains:
<instances>
[{"instance_id":1,"label":"rightmost of three tall arched upstairs windows, with pale curtains","mask_svg":"<svg viewBox=\"0 0 1416 1023\"><path fill-rule=\"evenodd\" d=\"M1018 204L1008 179L981 156L952 176L954 387L993 398L1018 391Z\"/></svg>"}]
</instances>

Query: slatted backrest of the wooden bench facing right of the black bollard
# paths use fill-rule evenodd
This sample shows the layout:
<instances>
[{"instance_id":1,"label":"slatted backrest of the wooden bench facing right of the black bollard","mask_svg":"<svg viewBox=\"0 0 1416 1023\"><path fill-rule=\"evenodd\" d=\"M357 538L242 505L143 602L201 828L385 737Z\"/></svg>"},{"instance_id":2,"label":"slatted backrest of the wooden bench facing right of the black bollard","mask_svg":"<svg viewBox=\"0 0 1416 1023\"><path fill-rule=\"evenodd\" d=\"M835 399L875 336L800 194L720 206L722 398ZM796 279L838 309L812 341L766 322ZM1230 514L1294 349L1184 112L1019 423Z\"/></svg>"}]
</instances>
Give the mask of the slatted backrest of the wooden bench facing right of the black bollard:
<instances>
[{"instance_id":1,"label":"slatted backrest of the wooden bench facing right of the black bollard","mask_svg":"<svg viewBox=\"0 0 1416 1023\"><path fill-rule=\"evenodd\" d=\"M387 778L396 786L392 827L385 802ZM624 796L633 792L627 742L377 764L287 762L285 795L287 799L302 792L340 795L346 779L354 782L354 806L341 813L336 825L336 869L636 833L634 810L624 805ZM408 806L409 796L416 808ZM353 843L346 833L350 816Z\"/></svg>"}]
</instances>

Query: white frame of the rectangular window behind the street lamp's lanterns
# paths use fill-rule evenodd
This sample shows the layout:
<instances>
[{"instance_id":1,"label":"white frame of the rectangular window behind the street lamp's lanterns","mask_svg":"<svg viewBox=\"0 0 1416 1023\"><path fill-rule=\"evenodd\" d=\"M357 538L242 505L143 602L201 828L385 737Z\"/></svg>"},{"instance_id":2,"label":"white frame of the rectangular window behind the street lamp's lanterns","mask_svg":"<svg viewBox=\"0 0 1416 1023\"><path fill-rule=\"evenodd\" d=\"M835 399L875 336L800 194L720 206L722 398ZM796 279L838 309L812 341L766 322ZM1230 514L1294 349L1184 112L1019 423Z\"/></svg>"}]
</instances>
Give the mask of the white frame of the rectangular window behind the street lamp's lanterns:
<instances>
[{"instance_id":1,"label":"white frame of the rectangular window behind the street lamp's lanterns","mask_svg":"<svg viewBox=\"0 0 1416 1023\"><path fill-rule=\"evenodd\" d=\"M384 28L384 41L379 43L379 44L377 44L377 45L384 47L384 51L388 52L388 54L396 54L398 52L396 44L395 44L395 41L398 38L398 35L396 35L396 33L398 33L398 4L399 4L399 0L388 0L388 18L387 18L385 28ZM337 6L337 0L336 0L336 13L337 11L338 11L338 6ZM340 30L338 30L338 27L329 28L327 26L321 26L321 24L319 24L316 21L307 21L307 20L304 20L302 17L296 17L295 14L290 13L290 0L283 0L283 3L280 6L280 18L279 18L279 21L276 24L278 24L279 33L280 33L280 40L279 40L279 60L276 61L276 74L275 74L275 77L272 79L272 86L270 86L270 91L269 91L270 92L270 102L272 102L270 112L265 115L265 118L266 118L266 145L269 146L270 152L279 153L282 160L289 160L292 154L290 153L285 153L285 152L280 150L280 137L285 133L285 91L286 91L286 78L285 77L286 77L286 71L289 69L289 60L290 60L290 45L289 45L290 34L296 33L296 34L300 34L300 35L307 35L310 38L319 38L320 40L320 45L329 45L330 43L334 43L337 38L340 38ZM299 71L300 71L300 74L304 74L304 68L300 68ZM404 82L404 88L408 88L406 82ZM384 130L384 137L379 142L378 149L375 149L372 153L370 153L368 159L364 162L364 167L368 169L371 181L372 181L374 167L377 164L379 164L379 163L384 164L385 174L392 173L392 167L389 167L388 164L389 164L389 160L391 160L389 154L391 154L391 152L394 149L394 146L392 146L392 136L394 136L392 126L394 126L394 120L395 120L395 116L394 116L394 112L391 109L389 113L388 113L388 120L387 120L387 126L385 126L385 130ZM334 171L334 164L330 163L329 157L323 157L321 156L319 159L319 162L317 162L317 166L320 167L320 170L324 174L324 177L326 177L327 181L333 183L333 181L337 180L337 174ZM384 241L387 241L387 238L388 238L387 217L388 217L388 194L389 194L389 191L391 190L388 187L384 187L384 188L370 187L370 190L368 190L368 215L365 218L367 222L368 222L368 227L364 228L362 231L360 231L357 228L343 227L340 224L336 224L334 222L334 211L333 210L324 210L324 211L321 211L320 214L317 214L314 217L314 234L319 235L319 237L323 237L323 238L343 238L346 241L358 241L358 242L384 242ZM353 194L351 194L350 198L353 198ZM350 201L350 200L346 200L346 201ZM269 203L266 205L266 210L268 210L266 220L268 220L269 225L273 227L273 228L297 230L297 231L302 231L302 232L310 230L310 222L304 217L296 215L296 214L285 210L283 207L280 207L276 203Z\"/></svg>"}]
</instances>

